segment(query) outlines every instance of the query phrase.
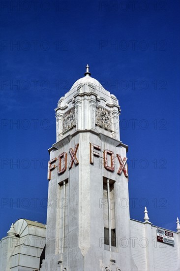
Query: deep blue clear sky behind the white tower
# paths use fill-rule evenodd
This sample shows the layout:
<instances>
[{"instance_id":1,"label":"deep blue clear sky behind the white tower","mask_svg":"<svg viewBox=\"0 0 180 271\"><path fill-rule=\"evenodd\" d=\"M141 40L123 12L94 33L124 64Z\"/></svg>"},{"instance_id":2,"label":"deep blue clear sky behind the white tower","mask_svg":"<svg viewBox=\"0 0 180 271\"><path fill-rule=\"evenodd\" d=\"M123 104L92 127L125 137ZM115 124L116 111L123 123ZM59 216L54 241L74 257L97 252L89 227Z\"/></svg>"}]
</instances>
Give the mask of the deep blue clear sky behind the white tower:
<instances>
[{"instance_id":1,"label":"deep blue clear sky behind the white tower","mask_svg":"<svg viewBox=\"0 0 180 271\"><path fill-rule=\"evenodd\" d=\"M46 223L54 108L91 76L121 106L130 217L176 230L180 216L180 6L173 1L1 1L0 237Z\"/></svg>"}]
</instances>

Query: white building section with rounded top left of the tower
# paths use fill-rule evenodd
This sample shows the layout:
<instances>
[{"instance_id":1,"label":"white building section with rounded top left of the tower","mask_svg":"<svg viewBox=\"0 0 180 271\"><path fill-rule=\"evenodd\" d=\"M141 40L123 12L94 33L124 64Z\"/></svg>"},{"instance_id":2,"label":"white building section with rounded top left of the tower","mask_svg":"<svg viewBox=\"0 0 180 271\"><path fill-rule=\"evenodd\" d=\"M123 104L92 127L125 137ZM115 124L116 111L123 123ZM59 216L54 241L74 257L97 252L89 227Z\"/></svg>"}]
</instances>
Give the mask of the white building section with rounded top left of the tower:
<instances>
[{"instance_id":1,"label":"white building section with rounded top left of the tower","mask_svg":"<svg viewBox=\"0 0 180 271\"><path fill-rule=\"evenodd\" d=\"M19 219L14 228L18 237L8 236L0 241L0 271L39 269L46 227L38 222Z\"/></svg>"}]
</instances>

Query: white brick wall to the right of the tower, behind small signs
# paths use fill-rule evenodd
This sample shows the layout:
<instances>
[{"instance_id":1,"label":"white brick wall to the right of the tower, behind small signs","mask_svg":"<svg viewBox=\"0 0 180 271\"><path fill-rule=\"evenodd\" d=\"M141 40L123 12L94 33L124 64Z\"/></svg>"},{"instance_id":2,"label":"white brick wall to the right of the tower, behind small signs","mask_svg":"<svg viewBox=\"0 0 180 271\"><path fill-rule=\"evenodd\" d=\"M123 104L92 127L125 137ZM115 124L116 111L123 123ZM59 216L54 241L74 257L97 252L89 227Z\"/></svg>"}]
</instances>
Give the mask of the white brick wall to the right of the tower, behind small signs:
<instances>
[{"instance_id":1,"label":"white brick wall to the right of the tower, behind small signs","mask_svg":"<svg viewBox=\"0 0 180 271\"><path fill-rule=\"evenodd\" d=\"M157 226L144 224L143 222L131 220L131 237L134 240L132 256L140 271L179 271L180 270L180 234L174 235L174 246L157 241ZM148 231L146 229L148 228ZM163 229L166 230L166 229ZM149 233L149 235L148 235ZM144 240L144 241L143 241ZM150 266L149 266L150 263Z\"/></svg>"}]
</instances>

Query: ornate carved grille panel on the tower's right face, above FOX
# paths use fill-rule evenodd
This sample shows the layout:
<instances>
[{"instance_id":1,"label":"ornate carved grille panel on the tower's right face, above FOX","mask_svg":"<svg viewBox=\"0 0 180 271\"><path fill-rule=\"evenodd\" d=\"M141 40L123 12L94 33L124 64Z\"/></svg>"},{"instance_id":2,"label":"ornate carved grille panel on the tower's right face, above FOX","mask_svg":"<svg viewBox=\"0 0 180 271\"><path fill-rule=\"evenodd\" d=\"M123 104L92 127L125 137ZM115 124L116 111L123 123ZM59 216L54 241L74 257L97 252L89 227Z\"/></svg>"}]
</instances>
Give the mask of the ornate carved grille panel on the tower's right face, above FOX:
<instances>
[{"instance_id":1,"label":"ornate carved grille panel on the tower's right face, above FOX","mask_svg":"<svg viewBox=\"0 0 180 271\"><path fill-rule=\"evenodd\" d=\"M111 112L103 107L96 107L95 123L106 129L111 130Z\"/></svg>"}]
</instances>

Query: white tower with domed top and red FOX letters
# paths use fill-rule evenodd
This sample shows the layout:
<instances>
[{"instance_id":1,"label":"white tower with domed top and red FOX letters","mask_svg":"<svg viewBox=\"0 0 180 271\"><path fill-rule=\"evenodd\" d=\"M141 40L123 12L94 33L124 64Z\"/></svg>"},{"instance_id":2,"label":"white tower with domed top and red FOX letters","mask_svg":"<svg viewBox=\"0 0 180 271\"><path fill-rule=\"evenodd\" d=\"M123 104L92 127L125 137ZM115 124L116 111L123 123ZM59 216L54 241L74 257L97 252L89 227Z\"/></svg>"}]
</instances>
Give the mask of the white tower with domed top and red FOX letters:
<instances>
[{"instance_id":1,"label":"white tower with domed top and red FOX letters","mask_svg":"<svg viewBox=\"0 0 180 271\"><path fill-rule=\"evenodd\" d=\"M56 111L49 149L45 271L133 271L127 145L117 98L90 77L77 80Z\"/></svg>"}]
</instances>

